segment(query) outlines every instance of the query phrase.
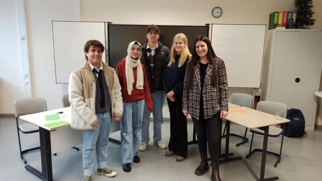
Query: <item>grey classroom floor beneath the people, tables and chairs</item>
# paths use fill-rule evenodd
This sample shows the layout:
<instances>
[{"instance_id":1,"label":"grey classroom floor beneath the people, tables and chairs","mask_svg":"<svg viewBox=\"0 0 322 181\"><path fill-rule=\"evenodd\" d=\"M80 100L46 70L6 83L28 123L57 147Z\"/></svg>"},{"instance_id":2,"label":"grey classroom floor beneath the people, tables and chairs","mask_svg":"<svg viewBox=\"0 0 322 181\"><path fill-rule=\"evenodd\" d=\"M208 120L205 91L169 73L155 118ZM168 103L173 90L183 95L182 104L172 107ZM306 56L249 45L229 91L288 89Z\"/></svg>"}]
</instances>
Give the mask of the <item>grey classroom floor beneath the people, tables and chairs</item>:
<instances>
[{"instance_id":1,"label":"grey classroom floor beneath the people, tables and chairs","mask_svg":"<svg viewBox=\"0 0 322 181\"><path fill-rule=\"evenodd\" d=\"M152 122L150 122L150 130ZM163 141L168 144L170 122L163 125ZM192 140L192 122L188 122L188 140ZM243 134L244 127L232 124L231 132ZM151 131L150 131L151 133ZM119 132L111 134L111 137L119 139ZM150 134L150 137L152 135ZM251 133L248 133L251 138ZM275 156L268 155L266 161L266 177L279 176L279 180L320 180L322 171L322 130L308 132L302 138L284 137L282 160L275 168ZM224 149L222 139L222 151ZM62 140L63 141L63 140ZM250 143L235 147L240 139L230 137L229 152L243 159L220 164L220 176L222 180L258 180L260 175L261 153L256 153L248 159L245 155L249 151ZM269 138L268 150L278 151L281 138ZM23 148L39 145L38 134L22 135ZM256 135L254 147L261 148L263 137ZM82 145L78 145L82 150ZM25 164L20 159L18 136L15 118L0 117L0 179L1 180L40 180L27 171ZM132 163L132 171L122 170L121 147L117 144L109 144L109 167L118 174L115 177L93 175L93 180L210 180L211 171L204 175L194 174L199 165L200 158L198 145L188 146L188 157L183 162L177 162L175 156L165 156L166 150L157 148L149 143L147 150L139 153L140 163ZM36 150L25 154L28 164L41 169L40 151ZM52 156L54 180L81 180L83 178L82 151L67 149Z\"/></svg>"}]
</instances>

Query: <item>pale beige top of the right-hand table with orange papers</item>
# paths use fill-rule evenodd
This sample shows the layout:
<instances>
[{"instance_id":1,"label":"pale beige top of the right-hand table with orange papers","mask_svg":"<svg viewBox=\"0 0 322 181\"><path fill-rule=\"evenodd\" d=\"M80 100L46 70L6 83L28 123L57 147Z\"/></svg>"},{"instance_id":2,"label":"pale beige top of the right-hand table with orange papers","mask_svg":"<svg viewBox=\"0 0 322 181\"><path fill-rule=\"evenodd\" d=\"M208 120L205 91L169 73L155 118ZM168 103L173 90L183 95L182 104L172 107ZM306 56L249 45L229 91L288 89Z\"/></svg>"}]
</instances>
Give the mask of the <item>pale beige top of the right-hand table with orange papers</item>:
<instances>
[{"instance_id":1,"label":"pale beige top of the right-hand table with orange papers","mask_svg":"<svg viewBox=\"0 0 322 181\"><path fill-rule=\"evenodd\" d=\"M245 110L248 111L248 113L236 113L230 111L230 109ZM250 129L290 122L290 120L288 119L282 118L281 120L278 120L276 119L275 115L267 114L246 107L236 107L230 109L225 119Z\"/></svg>"}]
</instances>

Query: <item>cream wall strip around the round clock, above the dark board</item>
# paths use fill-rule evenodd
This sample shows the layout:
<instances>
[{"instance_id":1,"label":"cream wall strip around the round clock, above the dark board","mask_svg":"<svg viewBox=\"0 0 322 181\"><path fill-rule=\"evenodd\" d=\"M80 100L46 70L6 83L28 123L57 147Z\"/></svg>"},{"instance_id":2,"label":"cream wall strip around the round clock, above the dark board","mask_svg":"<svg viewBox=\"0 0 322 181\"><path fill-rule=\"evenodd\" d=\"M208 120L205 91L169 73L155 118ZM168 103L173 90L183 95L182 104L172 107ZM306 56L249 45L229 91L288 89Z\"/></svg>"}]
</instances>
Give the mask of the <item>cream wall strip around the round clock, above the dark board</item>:
<instances>
[{"instance_id":1,"label":"cream wall strip around the round clock, above the dark board","mask_svg":"<svg viewBox=\"0 0 322 181\"><path fill-rule=\"evenodd\" d=\"M165 0L147 2L82 0L83 21L107 21L115 24L204 25L266 24L273 11L293 11L293 0ZM211 11L221 7L222 16ZM95 13L93 13L95 12Z\"/></svg>"}]
</instances>

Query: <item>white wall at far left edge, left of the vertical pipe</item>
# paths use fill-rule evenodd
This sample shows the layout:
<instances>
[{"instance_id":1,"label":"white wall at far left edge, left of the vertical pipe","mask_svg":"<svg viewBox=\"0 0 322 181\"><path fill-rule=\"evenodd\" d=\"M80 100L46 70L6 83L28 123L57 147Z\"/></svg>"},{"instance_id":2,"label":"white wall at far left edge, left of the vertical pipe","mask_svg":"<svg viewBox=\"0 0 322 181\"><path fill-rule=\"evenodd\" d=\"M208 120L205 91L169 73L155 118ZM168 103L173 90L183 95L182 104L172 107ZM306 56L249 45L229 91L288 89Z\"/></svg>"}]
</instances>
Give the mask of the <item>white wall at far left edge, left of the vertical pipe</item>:
<instances>
[{"instance_id":1,"label":"white wall at far left edge, left of the vertical pipe","mask_svg":"<svg viewBox=\"0 0 322 181\"><path fill-rule=\"evenodd\" d=\"M0 1L0 114L14 113L25 97L15 1Z\"/></svg>"}]
</instances>

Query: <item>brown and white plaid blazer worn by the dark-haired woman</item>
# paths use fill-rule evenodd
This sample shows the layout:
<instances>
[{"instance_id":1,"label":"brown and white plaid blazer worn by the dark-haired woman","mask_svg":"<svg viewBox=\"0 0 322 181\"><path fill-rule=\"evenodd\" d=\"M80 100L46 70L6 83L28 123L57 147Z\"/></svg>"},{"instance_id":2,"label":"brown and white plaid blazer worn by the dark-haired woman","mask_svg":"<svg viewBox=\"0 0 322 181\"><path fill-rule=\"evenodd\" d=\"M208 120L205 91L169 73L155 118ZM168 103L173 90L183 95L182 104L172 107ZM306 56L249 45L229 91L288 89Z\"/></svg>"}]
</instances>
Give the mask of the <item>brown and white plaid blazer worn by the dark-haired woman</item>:
<instances>
[{"instance_id":1,"label":"brown and white plaid blazer worn by the dark-haired woman","mask_svg":"<svg viewBox=\"0 0 322 181\"><path fill-rule=\"evenodd\" d=\"M191 61L187 64L187 71L184 80L182 110L188 110L189 114L199 120L200 113L200 67L199 63L194 67L194 76L191 89L188 85L189 71ZM212 86L211 74L217 69L217 86ZM218 111L228 111L228 84L225 64L222 59L216 57L215 64L208 64L204 86L202 89L204 119L213 117Z\"/></svg>"}]
</instances>

